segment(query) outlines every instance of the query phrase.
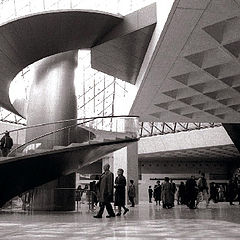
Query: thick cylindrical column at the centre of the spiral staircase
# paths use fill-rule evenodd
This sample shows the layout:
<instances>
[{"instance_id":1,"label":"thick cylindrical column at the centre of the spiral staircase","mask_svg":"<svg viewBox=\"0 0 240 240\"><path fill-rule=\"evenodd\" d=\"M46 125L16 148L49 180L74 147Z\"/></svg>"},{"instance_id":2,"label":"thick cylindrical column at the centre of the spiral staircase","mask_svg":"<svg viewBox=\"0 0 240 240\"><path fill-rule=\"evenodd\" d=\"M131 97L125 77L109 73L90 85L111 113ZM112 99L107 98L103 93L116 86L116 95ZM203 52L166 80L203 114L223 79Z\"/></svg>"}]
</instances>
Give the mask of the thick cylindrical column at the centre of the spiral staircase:
<instances>
[{"instance_id":1,"label":"thick cylindrical column at the centre of the spiral staircase","mask_svg":"<svg viewBox=\"0 0 240 240\"><path fill-rule=\"evenodd\" d=\"M74 87L76 66L77 51L47 57L35 64L27 110L28 126L77 117ZM76 121L71 121L28 129L26 141L75 123ZM37 143L41 143L40 148L44 149L67 146L71 143L74 132L74 129L64 130L41 138ZM75 174L61 177L35 189L33 210L74 210L74 190L66 188L75 188Z\"/></svg>"}]
</instances>

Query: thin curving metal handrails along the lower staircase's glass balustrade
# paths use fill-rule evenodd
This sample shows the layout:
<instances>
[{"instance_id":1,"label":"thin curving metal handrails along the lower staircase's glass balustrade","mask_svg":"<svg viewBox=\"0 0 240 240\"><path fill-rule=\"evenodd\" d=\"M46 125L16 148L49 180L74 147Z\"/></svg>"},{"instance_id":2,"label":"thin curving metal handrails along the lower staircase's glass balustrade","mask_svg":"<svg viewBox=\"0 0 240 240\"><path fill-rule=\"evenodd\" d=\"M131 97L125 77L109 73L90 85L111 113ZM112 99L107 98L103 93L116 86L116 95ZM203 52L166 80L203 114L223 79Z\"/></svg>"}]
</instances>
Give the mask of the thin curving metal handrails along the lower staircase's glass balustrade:
<instances>
[{"instance_id":1,"label":"thin curving metal handrails along the lower staircase's glass balustrade","mask_svg":"<svg viewBox=\"0 0 240 240\"><path fill-rule=\"evenodd\" d=\"M63 130L66 130L66 129L70 129L72 127L76 127L76 126L79 126L79 125L83 125L85 123L88 123L88 122L92 122L94 121L95 119L99 119L99 118L119 118L119 117L126 117L126 118L133 118L133 117L138 117L138 116L130 116L130 115L118 115L118 116L103 116L103 117L92 117L92 118L78 118L78 119L68 119L68 120L61 120L61 121L56 121L56 122L51 122L51 123L43 123L43 124L37 124L37 125L33 125L33 126L29 126L29 127L23 127L21 129L17 129L17 130L12 130L11 132L13 131L21 131L21 130L24 130L24 129L27 129L27 128L34 128L34 127L39 127L39 126L46 126L46 125L52 125L52 124L57 124L57 123L63 123L63 122L70 122L70 121L73 121L73 120L87 120L85 122L81 122L81 123L76 123L76 124L73 124L73 125L70 125L70 126L66 126L66 127L63 127L63 128L59 128L57 130L54 130L54 131L50 131L48 133L45 133L43 135L40 135L36 138L33 138L31 140L29 140L28 142L16 147L15 149L13 149L9 154L8 156L10 157L14 152L16 152L18 149L22 148L23 146L26 146L28 145L29 143L32 143L38 139L41 139L43 137L46 137L46 136L49 136L51 134L54 134L54 133L57 133L57 132L60 132L60 131L63 131ZM9 131L10 132L10 131Z\"/></svg>"}]
</instances>

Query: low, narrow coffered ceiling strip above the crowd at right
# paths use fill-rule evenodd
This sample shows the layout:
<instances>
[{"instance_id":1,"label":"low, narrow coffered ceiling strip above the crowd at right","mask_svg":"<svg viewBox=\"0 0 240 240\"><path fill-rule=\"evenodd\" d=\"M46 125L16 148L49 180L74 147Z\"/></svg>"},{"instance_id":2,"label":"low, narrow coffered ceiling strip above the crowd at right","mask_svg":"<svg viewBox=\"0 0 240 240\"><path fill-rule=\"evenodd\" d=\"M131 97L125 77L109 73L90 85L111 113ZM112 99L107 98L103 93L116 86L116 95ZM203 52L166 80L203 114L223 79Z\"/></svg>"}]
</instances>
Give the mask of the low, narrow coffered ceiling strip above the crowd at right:
<instances>
[{"instance_id":1,"label":"low, narrow coffered ceiling strip above the crowd at right","mask_svg":"<svg viewBox=\"0 0 240 240\"><path fill-rule=\"evenodd\" d=\"M139 160L240 160L240 153L233 144L225 146L213 146L177 151L164 151L148 154L139 154Z\"/></svg>"}]
</instances>

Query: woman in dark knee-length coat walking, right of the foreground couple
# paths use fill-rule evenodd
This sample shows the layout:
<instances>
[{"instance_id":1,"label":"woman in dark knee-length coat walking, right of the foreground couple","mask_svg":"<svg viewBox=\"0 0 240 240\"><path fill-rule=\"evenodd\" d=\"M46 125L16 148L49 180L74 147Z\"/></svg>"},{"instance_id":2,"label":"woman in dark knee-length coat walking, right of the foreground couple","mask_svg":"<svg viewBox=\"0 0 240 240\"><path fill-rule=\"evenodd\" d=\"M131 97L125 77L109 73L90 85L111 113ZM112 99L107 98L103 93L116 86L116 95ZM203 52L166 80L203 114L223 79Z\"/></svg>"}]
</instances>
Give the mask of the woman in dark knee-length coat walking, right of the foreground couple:
<instances>
[{"instance_id":1,"label":"woman in dark knee-length coat walking, right of the foreground couple","mask_svg":"<svg viewBox=\"0 0 240 240\"><path fill-rule=\"evenodd\" d=\"M124 209L123 215L125 215L129 209L125 206L125 188L126 178L123 176L123 169L119 168L117 171L117 177L115 178L115 202L114 205L118 207L118 213L116 216L121 216L121 209Z\"/></svg>"}]
</instances>

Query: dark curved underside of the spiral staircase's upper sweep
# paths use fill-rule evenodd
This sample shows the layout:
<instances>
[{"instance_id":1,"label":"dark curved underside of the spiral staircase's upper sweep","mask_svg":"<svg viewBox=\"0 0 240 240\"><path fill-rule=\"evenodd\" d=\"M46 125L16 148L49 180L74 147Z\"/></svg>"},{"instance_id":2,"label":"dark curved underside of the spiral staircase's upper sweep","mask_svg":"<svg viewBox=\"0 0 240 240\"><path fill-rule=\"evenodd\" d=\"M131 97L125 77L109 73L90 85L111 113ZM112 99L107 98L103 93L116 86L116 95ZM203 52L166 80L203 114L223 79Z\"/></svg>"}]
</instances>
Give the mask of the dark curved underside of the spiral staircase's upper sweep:
<instances>
[{"instance_id":1,"label":"dark curved underside of the spiral staircase's upper sweep","mask_svg":"<svg viewBox=\"0 0 240 240\"><path fill-rule=\"evenodd\" d=\"M91 48L123 18L97 11L65 10L32 14L0 26L0 106L18 113L8 90L26 66L44 57Z\"/></svg>"}]
</instances>

